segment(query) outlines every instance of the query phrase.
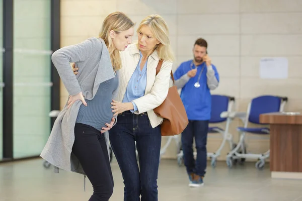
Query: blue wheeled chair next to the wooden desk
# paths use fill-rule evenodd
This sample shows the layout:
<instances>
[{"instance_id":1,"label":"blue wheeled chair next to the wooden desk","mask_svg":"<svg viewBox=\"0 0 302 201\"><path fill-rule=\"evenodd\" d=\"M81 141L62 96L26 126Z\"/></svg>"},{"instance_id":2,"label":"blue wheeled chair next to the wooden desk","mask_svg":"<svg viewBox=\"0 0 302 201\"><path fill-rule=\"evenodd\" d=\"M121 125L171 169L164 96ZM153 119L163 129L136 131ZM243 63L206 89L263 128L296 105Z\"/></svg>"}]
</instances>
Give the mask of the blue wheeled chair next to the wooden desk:
<instances>
[{"instance_id":1,"label":"blue wheeled chair next to the wooden desk","mask_svg":"<svg viewBox=\"0 0 302 201\"><path fill-rule=\"evenodd\" d=\"M287 103L287 97L273 96L273 95L262 95L252 99L248 106L246 113L229 113L227 116L230 118L240 118L244 127L238 127L237 130L240 134L240 140L237 146L226 155L226 164L231 168L234 160L241 159L242 162L245 159L258 159L256 168L262 169L265 164L265 159L269 157L269 150L262 154L252 154L246 152L245 137L246 133L257 134L257 135L269 135L270 130L267 127L262 126L259 122L261 114L283 112L284 106ZM248 123L259 125L257 128L248 127Z\"/></svg>"}]
</instances>

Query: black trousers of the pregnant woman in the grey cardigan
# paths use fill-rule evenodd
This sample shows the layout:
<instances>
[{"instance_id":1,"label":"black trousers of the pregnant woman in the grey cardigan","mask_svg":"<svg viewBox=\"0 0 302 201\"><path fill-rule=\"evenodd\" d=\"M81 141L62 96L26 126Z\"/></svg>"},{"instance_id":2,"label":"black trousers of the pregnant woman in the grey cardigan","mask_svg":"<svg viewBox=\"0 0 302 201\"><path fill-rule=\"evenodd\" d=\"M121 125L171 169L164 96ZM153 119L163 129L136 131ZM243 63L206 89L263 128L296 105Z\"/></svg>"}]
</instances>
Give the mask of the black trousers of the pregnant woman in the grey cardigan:
<instances>
[{"instance_id":1,"label":"black trousers of the pregnant woman in the grey cardigan","mask_svg":"<svg viewBox=\"0 0 302 201\"><path fill-rule=\"evenodd\" d=\"M92 183L89 201L108 201L113 193L113 177L104 135L89 125L76 123L72 152Z\"/></svg>"}]
</instances>

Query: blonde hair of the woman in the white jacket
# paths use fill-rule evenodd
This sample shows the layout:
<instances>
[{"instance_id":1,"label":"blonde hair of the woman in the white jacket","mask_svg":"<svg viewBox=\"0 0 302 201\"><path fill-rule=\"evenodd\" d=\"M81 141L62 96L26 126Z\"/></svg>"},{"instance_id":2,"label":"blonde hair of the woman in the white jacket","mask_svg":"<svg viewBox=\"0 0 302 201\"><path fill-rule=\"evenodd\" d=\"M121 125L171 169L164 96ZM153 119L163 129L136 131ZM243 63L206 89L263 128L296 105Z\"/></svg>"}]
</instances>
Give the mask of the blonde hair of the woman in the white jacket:
<instances>
[{"instance_id":1,"label":"blonde hair of the woman in the white jacket","mask_svg":"<svg viewBox=\"0 0 302 201\"><path fill-rule=\"evenodd\" d=\"M160 59L172 62L174 56L170 45L169 28L165 20L159 15L149 15L141 21L137 32L142 26L148 26L155 38L160 41L160 44L154 48L154 50L157 50Z\"/></svg>"}]
</instances>

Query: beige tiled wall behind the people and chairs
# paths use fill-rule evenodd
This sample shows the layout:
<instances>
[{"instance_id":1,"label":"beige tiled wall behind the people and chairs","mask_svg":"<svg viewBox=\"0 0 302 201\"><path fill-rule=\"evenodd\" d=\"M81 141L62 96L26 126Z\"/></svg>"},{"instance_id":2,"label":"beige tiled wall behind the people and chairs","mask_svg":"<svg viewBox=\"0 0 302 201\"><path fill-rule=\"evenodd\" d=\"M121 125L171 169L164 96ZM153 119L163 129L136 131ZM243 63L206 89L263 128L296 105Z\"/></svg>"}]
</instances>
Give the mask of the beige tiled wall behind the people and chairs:
<instances>
[{"instance_id":1,"label":"beige tiled wall behind the people and chairs","mask_svg":"<svg viewBox=\"0 0 302 201\"><path fill-rule=\"evenodd\" d=\"M170 27L177 58L174 69L192 58L195 39L205 38L209 56L220 74L219 88L213 93L235 96L238 111L246 111L252 97L275 94L289 97L285 110L302 112L300 0L62 0L61 46L97 36L103 19L114 11L125 12L137 24L149 14L162 15ZM279 56L289 61L288 79L261 79L260 58ZM66 98L62 85L61 106ZM239 125L239 121L234 121L231 126L235 139L238 139ZM221 140L217 137L209 135L209 151L219 146ZM267 136L251 136L247 144L251 152L269 148ZM228 146L220 159L224 159L226 152ZM176 157L175 143L170 145L165 157Z\"/></svg>"}]
</instances>

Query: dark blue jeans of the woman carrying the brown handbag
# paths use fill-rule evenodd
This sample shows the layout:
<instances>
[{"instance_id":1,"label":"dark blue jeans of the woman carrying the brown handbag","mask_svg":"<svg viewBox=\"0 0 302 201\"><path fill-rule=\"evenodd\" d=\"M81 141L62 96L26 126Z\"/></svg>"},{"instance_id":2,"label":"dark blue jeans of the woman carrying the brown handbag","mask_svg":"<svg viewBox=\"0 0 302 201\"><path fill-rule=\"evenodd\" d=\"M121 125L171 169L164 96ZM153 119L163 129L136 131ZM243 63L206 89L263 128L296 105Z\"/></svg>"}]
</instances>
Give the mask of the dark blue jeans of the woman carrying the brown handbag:
<instances>
[{"instance_id":1,"label":"dark blue jeans of the woman carrying the brown handbag","mask_svg":"<svg viewBox=\"0 0 302 201\"><path fill-rule=\"evenodd\" d=\"M140 195L142 201L157 201L162 143L160 126L152 128L146 113L134 115L127 111L117 117L109 138L124 179L124 201L139 201Z\"/></svg>"}]
</instances>

